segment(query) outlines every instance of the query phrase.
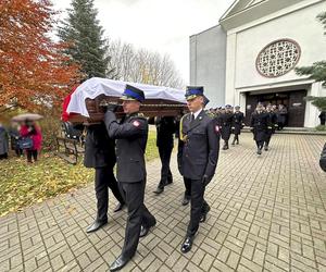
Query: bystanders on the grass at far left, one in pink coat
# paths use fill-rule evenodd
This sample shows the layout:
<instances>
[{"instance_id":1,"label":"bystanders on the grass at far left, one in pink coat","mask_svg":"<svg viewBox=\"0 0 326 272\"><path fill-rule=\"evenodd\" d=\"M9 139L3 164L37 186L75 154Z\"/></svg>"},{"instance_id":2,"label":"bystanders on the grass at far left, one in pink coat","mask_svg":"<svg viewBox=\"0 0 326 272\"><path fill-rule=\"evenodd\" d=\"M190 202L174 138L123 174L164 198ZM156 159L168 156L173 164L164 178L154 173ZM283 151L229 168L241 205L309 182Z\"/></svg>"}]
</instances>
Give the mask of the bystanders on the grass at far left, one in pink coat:
<instances>
[{"instance_id":1,"label":"bystanders on the grass at far left, one in pink coat","mask_svg":"<svg viewBox=\"0 0 326 272\"><path fill-rule=\"evenodd\" d=\"M34 121L13 122L9 128L0 123L0 160L9 159L11 149L17 157L26 154L28 163L36 162L41 143L41 131Z\"/></svg>"}]
</instances>

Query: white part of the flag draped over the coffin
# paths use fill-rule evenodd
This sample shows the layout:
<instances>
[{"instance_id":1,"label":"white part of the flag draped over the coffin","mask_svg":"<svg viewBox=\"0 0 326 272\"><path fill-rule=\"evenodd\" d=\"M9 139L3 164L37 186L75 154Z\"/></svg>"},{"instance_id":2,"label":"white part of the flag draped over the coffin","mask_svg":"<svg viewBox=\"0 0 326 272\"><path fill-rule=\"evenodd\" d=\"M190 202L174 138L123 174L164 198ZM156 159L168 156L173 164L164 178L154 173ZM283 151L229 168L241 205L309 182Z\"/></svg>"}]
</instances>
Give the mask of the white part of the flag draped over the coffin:
<instances>
[{"instance_id":1,"label":"white part of the flag draped over the coffin","mask_svg":"<svg viewBox=\"0 0 326 272\"><path fill-rule=\"evenodd\" d=\"M85 102L86 98L95 99L100 95L120 97L123 94L126 84L143 90L147 100L164 99L174 102L186 103L185 91L180 89L92 77L79 85L72 94L66 111L68 113L79 113L86 118L89 118Z\"/></svg>"}]
</instances>

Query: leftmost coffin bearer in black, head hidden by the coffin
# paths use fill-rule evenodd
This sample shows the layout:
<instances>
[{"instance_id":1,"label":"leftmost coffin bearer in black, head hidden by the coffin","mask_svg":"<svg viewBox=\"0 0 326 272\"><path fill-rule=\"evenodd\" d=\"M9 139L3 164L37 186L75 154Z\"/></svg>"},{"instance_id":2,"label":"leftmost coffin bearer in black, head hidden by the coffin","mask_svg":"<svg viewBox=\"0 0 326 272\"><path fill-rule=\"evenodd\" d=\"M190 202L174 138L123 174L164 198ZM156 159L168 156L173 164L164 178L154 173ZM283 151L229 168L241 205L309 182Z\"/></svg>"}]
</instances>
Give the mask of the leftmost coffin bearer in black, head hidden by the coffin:
<instances>
[{"instance_id":1,"label":"leftmost coffin bearer in black, head hidden by the coffin","mask_svg":"<svg viewBox=\"0 0 326 272\"><path fill-rule=\"evenodd\" d=\"M95 190L97 197L97 218L86 232L96 232L108 223L109 188L118 200L114 212L124 206L124 199L118 190L113 173L115 164L115 144L109 138L104 123L87 126L85 141L84 165L95 169Z\"/></svg>"}]
</instances>

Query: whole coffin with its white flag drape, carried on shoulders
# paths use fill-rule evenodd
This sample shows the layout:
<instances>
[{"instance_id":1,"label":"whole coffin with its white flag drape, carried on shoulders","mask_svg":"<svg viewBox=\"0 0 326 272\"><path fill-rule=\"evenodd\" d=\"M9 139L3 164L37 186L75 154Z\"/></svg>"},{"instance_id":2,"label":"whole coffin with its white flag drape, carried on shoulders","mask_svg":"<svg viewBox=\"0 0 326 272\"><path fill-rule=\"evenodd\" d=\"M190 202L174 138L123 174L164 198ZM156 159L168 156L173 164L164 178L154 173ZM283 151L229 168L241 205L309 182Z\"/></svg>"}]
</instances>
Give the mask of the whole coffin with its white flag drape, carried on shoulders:
<instances>
[{"instance_id":1,"label":"whole coffin with its white flag drape, carried on shoulders","mask_svg":"<svg viewBox=\"0 0 326 272\"><path fill-rule=\"evenodd\" d=\"M105 108L110 103L121 103L124 82L105 78L90 78L83 83L72 95L67 107L72 123L95 124L103 120ZM134 85L145 91L146 101L142 102L140 112L145 116L177 116L183 115L188 109L186 107L185 91L173 88L152 86L145 84ZM117 118L123 116L123 109L116 112Z\"/></svg>"}]
</instances>

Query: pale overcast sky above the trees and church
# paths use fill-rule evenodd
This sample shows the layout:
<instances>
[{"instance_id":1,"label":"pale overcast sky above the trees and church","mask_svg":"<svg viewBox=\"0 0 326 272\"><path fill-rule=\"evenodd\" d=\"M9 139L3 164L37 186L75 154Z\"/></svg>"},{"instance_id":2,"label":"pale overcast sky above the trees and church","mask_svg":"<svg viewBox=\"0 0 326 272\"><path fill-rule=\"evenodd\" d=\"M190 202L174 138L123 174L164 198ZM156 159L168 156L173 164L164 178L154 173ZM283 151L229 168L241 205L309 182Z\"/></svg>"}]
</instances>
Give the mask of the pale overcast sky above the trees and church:
<instances>
[{"instance_id":1,"label":"pale overcast sky above the trees and church","mask_svg":"<svg viewBox=\"0 0 326 272\"><path fill-rule=\"evenodd\" d=\"M52 0L65 11L70 0ZM189 36L218 24L234 0L95 0L105 36L168 53L189 83ZM64 16L64 13L62 14Z\"/></svg>"}]
</instances>

